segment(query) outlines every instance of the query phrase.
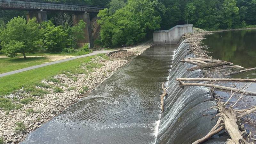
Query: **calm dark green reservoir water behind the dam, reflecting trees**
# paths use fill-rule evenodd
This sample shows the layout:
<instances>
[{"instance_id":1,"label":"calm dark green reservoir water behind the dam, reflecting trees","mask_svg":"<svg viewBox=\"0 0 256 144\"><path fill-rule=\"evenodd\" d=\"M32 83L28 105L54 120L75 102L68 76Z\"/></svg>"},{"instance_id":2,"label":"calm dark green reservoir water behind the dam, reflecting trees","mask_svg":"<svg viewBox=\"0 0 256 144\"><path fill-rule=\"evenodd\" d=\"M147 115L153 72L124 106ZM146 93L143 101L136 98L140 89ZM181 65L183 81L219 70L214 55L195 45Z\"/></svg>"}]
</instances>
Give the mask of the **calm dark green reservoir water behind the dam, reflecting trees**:
<instances>
[{"instance_id":1,"label":"calm dark green reservoir water behind the dam, reflecting trees","mask_svg":"<svg viewBox=\"0 0 256 144\"><path fill-rule=\"evenodd\" d=\"M212 49L214 59L226 60L244 68L256 67L256 30L236 30L211 34L203 40ZM232 77L255 78L256 71L236 74Z\"/></svg>"}]
</instances>

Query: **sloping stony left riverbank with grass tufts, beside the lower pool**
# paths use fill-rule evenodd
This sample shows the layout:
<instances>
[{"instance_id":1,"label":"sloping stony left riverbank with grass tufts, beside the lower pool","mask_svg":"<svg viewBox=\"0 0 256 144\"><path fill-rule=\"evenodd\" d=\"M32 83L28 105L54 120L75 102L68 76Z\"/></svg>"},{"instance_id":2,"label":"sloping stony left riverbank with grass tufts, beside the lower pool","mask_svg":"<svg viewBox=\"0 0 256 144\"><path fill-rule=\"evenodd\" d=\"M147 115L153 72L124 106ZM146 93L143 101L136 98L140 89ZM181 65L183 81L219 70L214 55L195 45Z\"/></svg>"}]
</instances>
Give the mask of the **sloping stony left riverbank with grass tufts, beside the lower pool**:
<instances>
[{"instance_id":1,"label":"sloping stony left riverbank with grass tufts, beside the lower pool","mask_svg":"<svg viewBox=\"0 0 256 144\"><path fill-rule=\"evenodd\" d=\"M128 51L138 56L151 46L152 43L142 44ZM8 104L13 103L16 108L0 110L0 137L5 143L18 143L29 132L86 96L86 92L97 87L129 61L130 59L113 59L101 54L73 71L62 72L37 83L35 88L22 88L6 95L4 99L9 100ZM79 69L86 69L87 72L79 74ZM36 95L35 91L41 95Z\"/></svg>"}]
</instances>

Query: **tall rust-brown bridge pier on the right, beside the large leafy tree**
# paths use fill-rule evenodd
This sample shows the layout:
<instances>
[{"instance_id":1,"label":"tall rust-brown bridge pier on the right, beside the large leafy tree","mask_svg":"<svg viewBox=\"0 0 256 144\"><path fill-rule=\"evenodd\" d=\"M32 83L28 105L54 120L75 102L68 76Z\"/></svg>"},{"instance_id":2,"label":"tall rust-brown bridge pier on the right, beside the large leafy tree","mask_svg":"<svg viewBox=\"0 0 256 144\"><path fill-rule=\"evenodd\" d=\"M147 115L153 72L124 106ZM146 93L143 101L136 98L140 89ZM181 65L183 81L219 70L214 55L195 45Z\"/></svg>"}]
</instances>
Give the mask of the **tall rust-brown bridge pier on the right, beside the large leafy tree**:
<instances>
[{"instance_id":1,"label":"tall rust-brown bridge pier on the right, beside the large leafy tree","mask_svg":"<svg viewBox=\"0 0 256 144\"><path fill-rule=\"evenodd\" d=\"M86 22L86 27L84 29L85 39L83 41L78 42L78 45L82 47L85 43L89 43L89 48L93 48L92 28L89 13L73 13L72 19L73 25L76 25L80 20L84 20L84 22Z\"/></svg>"}]
</instances>

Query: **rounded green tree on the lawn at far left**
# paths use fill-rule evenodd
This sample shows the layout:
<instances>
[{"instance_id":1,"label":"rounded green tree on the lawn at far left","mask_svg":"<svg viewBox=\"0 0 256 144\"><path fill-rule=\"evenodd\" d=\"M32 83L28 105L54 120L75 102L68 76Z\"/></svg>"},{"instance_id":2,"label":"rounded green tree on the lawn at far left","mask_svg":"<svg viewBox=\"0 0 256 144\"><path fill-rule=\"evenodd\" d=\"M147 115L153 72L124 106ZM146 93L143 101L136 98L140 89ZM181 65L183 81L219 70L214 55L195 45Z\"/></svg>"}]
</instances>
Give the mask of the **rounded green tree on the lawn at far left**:
<instances>
[{"instance_id":1,"label":"rounded green tree on the lawn at far left","mask_svg":"<svg viewBox=\"0 0 256 144\"><path fill-rule=\"evenodd\" d=\"M20 16L15 17L0 33L1 52L8 57L15 57L17 53L22 53L26 59L25 53L35 53L41 48L41 36L42 32L36 18L27 22Z\"/></svg>"}]
</instances>

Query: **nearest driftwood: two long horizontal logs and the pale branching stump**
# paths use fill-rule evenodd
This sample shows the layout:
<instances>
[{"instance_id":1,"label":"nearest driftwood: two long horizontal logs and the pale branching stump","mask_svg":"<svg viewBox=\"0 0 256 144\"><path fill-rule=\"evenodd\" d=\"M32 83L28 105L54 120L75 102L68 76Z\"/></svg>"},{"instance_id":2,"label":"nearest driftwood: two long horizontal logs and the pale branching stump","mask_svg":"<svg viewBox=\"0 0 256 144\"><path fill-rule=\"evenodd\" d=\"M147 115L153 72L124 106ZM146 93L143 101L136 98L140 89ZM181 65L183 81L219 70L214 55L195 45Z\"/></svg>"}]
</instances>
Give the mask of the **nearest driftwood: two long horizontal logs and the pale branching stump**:
<instances>
[{"instance_id":1,"label":"nearest driftwood: two long horizontal logs and the pale branching stump","mask_svg":"<svg viewBox=\"0 0 256 144\"><path fill-rule=\"evenodd\" d=\"M234 93L231 94L229 99L223 104L220 102L220 99L217 106L214 106L212 108L216 108L219 111L219 114L214 116L213 118L219 117L219 120L217 121L216 125L212 128L212 130L206 134L203 138L196 140L193 144L200 144L205 142L206 140L210 139L213 135L221 132L225 129L226 132L228 132L231 139L227 140L227 144L251 144L247 142L247 139L244 137L247 133L244 129L244 125L241 124L240 119L244 116L247 116L253 112L256 111L256 106L253 106L252 108L248 109L236 109L234 110L233 107L237 104L239 100L244 96L244 94L251 94L255 95L255 92L246 91L251 84L248 86L244 85L240 89L235 89L231 87L225 87L220 85L214 85L214 84L201 84L201 83L184 83L182 81L206 81L206 82L215 82L215 81L241 81L241 82L255 82L255 79L216 79L216 78L177 78L176 79L181 87L184 86L206 86L206 87L212 87L217 89L223 89L223 90L229 90L233 91ZM246 86L246 87L245 87ZM230 103L229 100L235 95L235 93L240 92L242 93L241 96L233 105L227 108L227 104ZM210 108L210 109L212 109ZM213 119L212 118L212 119ZM253 142L252 142L253 144Z\"/></svg>"}]
</instances>

